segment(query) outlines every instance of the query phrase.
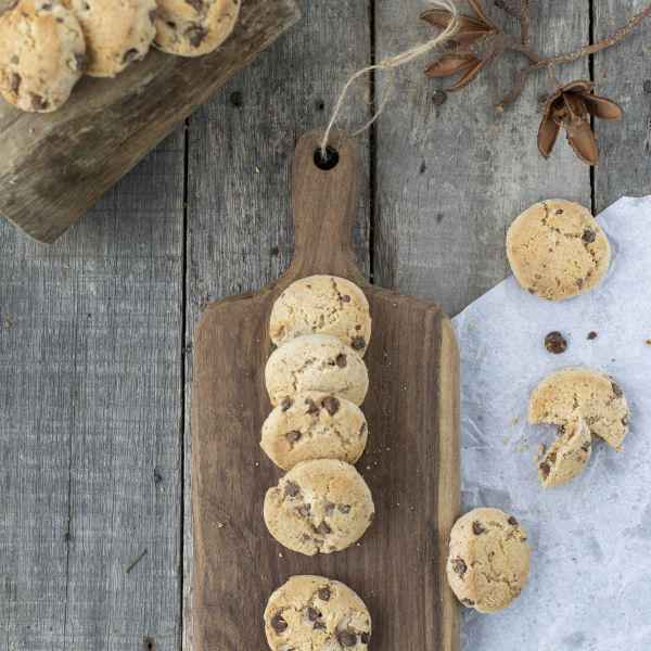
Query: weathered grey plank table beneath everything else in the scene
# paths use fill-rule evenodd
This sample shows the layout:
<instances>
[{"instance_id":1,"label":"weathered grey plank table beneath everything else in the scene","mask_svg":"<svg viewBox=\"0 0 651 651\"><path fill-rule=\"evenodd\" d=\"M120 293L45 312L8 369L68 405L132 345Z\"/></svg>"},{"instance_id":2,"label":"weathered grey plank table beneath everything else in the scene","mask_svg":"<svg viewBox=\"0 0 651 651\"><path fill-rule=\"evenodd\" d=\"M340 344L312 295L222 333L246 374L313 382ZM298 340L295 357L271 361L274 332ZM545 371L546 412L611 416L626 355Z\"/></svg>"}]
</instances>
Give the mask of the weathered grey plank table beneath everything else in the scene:
<instances>
[{"instance_id":1,"label":"weathered grey plank table beneath everything else in the scene","mask_svg":"<svg viewBox=\"0 0 651 651\"><path fill-rule=\"evenodd\" d=\"M192 649L197 318L286 268L291 154L327 122L344 77L432 34L418 20L425 1L301 4L298 25L52 247L0 221L0 647ZM535 39L569 51L646 4L540 2ZM505 232L529 204L563 196L599 212L651 193L649 34L643 25L559 69L565 82L591 77L626 108L620 123L597 123L593 169L564 139L550 161L538 154L533 105L549 90L545 73L507 113L492 110L518 56L438 107L424 61L398 72L384 114L359 138L362 272L454 316L508 276ZM371 90L356 86L342 128L369 116Z\"/></svg>"}]
</instances>

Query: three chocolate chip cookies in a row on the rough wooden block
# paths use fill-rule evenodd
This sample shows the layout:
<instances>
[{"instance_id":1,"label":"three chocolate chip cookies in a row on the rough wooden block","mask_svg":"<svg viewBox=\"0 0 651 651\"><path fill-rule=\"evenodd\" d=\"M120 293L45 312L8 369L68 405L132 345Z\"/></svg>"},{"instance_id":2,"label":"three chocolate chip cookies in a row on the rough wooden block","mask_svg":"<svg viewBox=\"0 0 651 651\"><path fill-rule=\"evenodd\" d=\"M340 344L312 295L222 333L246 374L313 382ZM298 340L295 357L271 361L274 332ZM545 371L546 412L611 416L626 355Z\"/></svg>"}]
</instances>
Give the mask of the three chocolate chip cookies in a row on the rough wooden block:
<instances>
[{"instance_id":1,"label":"three chocolate chip cookies in a row on the rough wooden block","mask_svg":"<svg viewBox=\"0 0 651 651\"><path fill-rule=\"evenodd\" d=\"M51 112L81 75L115 77L154 44L181 56L218 48L240 0L11 0L0 10L0 91Z\"/></svg>"}]
</instances>

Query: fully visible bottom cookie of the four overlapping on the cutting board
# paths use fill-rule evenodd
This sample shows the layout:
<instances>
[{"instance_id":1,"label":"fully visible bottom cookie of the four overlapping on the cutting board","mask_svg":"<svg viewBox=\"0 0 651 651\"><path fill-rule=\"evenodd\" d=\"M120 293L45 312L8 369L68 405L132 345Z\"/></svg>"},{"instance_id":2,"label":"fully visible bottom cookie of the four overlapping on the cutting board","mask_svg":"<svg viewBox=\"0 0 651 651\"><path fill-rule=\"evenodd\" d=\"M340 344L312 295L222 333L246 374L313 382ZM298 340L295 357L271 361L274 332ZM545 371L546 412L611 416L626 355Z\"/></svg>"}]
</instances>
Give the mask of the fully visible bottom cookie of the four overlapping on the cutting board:
<instances>
[{"instance_id":1,"label":"fully visible bottom cookie of the four overlapping on the cutting board","mask_svg":"<svg viewBox=\"0 0 651 651\"><path fill-rule=\"evenodd\" d=\"M349 463L334 459L294 465L265 496L269 533L281 545L307 556L353 545L374 512L361 475Z\"/></svg>"}]
</instances>

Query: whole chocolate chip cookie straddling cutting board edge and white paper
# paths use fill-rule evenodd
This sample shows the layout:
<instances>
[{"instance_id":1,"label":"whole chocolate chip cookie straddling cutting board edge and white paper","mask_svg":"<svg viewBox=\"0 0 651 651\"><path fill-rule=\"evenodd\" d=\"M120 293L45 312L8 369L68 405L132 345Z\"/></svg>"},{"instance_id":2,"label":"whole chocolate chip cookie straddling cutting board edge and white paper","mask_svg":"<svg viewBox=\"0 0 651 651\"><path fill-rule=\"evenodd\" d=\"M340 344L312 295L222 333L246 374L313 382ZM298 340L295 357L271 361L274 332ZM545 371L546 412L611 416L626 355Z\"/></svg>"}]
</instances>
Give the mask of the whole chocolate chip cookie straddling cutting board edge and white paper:
<instances>
[{"instance_id":1,"label":"whole chocolate chip cookie straddling cutting board edge and white paper","mask_svg":"<svg viewBox=\"0 0 651 651\"><path fill-rule=\"evenodd\" d=\"M475 509L450 534L448 583L468 608L495 613L512 603L528 575L526 534L513 515Z\"/></svg>"}]
</instances>

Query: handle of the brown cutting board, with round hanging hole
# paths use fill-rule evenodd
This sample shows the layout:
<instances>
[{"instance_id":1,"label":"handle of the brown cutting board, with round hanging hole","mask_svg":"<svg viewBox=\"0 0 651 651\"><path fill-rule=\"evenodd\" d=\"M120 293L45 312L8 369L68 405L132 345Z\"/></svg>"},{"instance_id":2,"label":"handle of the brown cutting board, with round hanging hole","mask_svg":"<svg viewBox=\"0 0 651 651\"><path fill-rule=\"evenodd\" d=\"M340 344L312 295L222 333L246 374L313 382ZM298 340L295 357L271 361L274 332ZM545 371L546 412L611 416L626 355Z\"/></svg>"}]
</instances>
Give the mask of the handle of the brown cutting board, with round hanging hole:
<instances>
[{"instance_id":1,"label":"handle of the brown cutting board, with round hanging hole","mask_svg":"<svg viewBox=\"0 0 651 651\"><path fill-rule=\"evenodd\" d=\"M333 130L326 164L319 146L323 129L308 131L294 150L294 261L296 276L332 273L362 281L350 240L359 202L359 145L349 133Z\"/></svg>"}]
</instances>

